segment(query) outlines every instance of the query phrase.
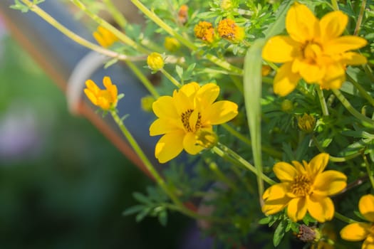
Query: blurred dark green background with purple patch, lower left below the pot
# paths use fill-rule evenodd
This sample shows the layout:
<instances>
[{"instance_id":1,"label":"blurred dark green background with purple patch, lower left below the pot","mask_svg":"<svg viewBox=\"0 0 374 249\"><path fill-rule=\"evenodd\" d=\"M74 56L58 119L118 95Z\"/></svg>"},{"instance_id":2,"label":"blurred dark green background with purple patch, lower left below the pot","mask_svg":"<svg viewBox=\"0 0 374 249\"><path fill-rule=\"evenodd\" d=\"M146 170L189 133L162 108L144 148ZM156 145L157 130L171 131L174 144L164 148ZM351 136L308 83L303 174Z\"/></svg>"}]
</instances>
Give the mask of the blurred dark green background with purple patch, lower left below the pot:
<instances>
[{"instance_id":1,"label":"blurred dark green background with purple patch, lower left below the pot","mask_svg":"<svg viewBox=\"0 0 374 249\"><path fill-rule=\"evenodd\" d=\"M151 181L9 36L0 51L0 248L181 248L189 221L122 216Z\"/></svg>"}]
</instances>

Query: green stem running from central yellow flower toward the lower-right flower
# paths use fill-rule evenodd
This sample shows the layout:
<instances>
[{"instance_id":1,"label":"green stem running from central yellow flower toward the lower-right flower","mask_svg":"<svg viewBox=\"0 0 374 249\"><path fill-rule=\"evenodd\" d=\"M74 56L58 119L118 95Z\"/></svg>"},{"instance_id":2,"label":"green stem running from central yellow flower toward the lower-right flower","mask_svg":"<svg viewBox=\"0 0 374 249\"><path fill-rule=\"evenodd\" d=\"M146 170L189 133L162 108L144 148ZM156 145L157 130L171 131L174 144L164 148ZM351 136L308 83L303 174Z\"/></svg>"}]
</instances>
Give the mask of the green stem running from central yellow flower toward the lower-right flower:
<instances>
[{"instance_id":1,"label":"green stem running from central yellow flower toward the lower-right flower","mask_svg":"<svg viewBox=\"0 0 374 249\"><path fill-rule=\"evenodd\" d=\"M254 174L258 174L256 167L254 167L252 164L250 164L248 161L240 157L237 153L232 151L232 149L229 149L229 147L224 146L223 144L218 144L219 147L222 147L220 149L219 147L215 146L212 148L212 151L219 155L219 157L226 158L226 159L234 159L234 161L237 161L239 165L244 166L246 169L249 169ZM232 160L230 160L232 161ZM266 181L266 183L273 185L276 184L275 181L271 180L268 176L265 174L261 174L261 179Z\"/></svg>"}]
</instances>

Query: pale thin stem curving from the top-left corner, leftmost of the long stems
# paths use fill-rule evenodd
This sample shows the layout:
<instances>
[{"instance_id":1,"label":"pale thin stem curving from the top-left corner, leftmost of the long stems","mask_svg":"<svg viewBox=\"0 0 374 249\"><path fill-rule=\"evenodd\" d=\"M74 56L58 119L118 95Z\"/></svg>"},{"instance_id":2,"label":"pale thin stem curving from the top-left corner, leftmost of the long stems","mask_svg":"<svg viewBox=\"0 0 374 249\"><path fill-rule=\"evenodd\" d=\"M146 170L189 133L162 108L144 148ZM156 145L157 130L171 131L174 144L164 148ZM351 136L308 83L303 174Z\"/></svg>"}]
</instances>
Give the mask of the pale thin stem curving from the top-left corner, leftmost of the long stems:
<instances>
[{"instance_id":1,"label":"pale thin stem curving from the top-left corner, leftmost of the long stems","mask_svg":"<svg viewBox=\"0 0 374 249\"><path fill-rule=\"evenodd\" d=\"M31 11L33 11L35 14L43 18L47 23L51 24L53 27L55 27L58 31L63 33L65 36L68 36L68 38L71 38L71 40L75 41L76 43L85 46L86 48L90 48L93 51L96 51L98 53L101 53L103 55L107 55L112 58L117 58L118 60L140 60L139 57L130 57L128 55L124 55L122 53L117 53L114 51L110 51L108 49L105 49L101 46L96 45L95 43L91 43L90 41L85 40L85 38L82 38L81 36L78 36L73 31L69 30L65 26L63 26L61 23L59 23L55 18L50 16L46 11L43 11L43 9L39 8L36 4L33 4L29 0L21 0L26 6L30 8Z\"/></svg>"}]
</instances>

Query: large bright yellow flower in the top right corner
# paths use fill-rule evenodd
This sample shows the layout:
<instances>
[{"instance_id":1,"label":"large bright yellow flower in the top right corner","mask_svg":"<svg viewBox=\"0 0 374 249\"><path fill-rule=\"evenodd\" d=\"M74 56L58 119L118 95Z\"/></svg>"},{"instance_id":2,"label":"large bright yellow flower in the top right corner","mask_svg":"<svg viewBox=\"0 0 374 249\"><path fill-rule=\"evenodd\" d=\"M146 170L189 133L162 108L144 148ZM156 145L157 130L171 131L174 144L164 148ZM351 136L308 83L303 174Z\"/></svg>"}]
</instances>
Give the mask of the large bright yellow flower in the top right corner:
<instances>
[{"instance_id":1,"label":"large bright yellow flower in the top right corner","mask_svg":"<svg viewBox=\"0 0 374 249\"><path fill-rule=\"evenodd\" d=\"M341 36L348 23L342 11L333 11L318 20L297 2L286 15L289 36L274 36L264 46L262 57L284 63L274 78L274 92L285 96L303 78L321 89L341 88L346 79L346 65L366 63L366 58L350 50L366 45L364 38Z\"/></svg>"}]
</instances>

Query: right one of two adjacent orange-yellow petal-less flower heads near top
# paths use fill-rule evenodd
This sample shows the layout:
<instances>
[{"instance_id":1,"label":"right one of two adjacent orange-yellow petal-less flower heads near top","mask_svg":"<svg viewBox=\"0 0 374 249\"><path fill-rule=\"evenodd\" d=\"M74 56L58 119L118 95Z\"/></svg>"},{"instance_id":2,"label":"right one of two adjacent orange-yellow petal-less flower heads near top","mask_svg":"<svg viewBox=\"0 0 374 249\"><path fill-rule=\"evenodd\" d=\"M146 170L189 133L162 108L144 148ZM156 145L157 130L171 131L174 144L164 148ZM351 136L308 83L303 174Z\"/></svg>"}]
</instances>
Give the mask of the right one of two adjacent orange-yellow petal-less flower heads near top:
<instances>
[{"instance_id":1,"label":"right one of two adjacent orange-yellow petal-less flower heads near top","mask_svg":"<svg viewBox=\"0 0 374 249\"><path fill-rule=\"evenodd\" d=\"M229 18L219 21L217 31L220 37L228 41L237 42L244 39L244 28L237 26L237 23Z\"/></svg>"}]
</instances>

